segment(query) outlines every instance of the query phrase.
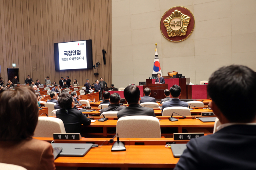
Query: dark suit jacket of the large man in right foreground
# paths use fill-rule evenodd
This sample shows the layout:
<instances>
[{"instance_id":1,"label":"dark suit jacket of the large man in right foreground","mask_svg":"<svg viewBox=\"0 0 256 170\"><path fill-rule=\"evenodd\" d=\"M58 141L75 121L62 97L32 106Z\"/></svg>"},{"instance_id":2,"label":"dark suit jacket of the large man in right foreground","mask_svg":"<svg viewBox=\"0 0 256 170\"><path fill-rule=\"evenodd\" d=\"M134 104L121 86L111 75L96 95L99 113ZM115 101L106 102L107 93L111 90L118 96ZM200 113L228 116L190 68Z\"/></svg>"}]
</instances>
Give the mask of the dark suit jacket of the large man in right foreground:
<instances>
[{"instance_id":1,"label":"dark suit jacket of the large man in right foreground","mask_svg":"<svg viewBox=\"0 0 256 170\"><path fill-rule=\"evenodd\" d=\"M191 139L174 170L255 170L256 125L230 125Z\"/></svg>"}]
</instances>

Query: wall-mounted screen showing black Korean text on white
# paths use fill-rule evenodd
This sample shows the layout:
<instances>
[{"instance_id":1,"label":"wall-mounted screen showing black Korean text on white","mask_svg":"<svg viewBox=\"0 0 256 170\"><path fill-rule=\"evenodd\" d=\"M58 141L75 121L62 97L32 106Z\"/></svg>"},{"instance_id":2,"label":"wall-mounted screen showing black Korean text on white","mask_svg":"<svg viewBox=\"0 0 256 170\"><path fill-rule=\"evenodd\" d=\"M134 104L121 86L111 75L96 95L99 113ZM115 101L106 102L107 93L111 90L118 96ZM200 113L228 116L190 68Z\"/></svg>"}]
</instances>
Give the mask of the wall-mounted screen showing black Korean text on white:
<instances>
[{"instance_id":1,"label":"wall-mounted screen showing black Korean text on white","mask_svg":"<svg viewBox=\"0 0 256 170\"><path fill-rule=\"evenodd\" d=\"M55 70L92 68L92 40L54 43Z\"/></svg>"}]
</instances>

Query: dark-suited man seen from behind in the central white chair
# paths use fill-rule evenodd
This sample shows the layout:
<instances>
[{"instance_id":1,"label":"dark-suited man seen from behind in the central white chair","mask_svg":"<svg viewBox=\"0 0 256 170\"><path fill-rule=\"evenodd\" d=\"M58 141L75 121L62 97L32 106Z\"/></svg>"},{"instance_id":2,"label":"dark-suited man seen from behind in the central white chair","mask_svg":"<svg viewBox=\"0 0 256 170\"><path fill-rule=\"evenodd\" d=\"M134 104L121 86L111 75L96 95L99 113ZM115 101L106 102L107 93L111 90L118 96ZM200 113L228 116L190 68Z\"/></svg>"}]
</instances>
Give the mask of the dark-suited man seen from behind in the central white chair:
<instances>
[{"instance_id":1,"label":"dark-suited man seen from behind in the central white chair","mask_svg":"<svg viewBox=\"0 0 256 170\"><path fill-rule=\"evenodd\" d=\"M125 107L124 109L118 111L117 118L124 116L154 116L156 117L154 110L148 107L140 106L140 89L136 86L127 86L124 89L124 98L125 101L128 102L129 107Z\"/></svg>"}]
</instances>

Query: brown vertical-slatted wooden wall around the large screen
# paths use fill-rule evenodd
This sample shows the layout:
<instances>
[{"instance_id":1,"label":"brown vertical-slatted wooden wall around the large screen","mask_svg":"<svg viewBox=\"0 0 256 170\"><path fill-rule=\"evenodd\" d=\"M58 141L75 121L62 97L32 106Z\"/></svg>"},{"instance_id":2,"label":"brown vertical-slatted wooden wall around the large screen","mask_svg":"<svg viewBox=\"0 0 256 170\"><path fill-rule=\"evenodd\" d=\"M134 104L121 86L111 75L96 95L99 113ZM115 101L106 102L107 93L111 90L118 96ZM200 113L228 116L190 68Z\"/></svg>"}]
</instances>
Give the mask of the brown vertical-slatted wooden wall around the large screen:
<instances>
[{"instance_id":1,"label":"brown vertical-slatted wooden wall around the large screen","mask_svg":"<svg viewBox=\"0 0 256 170\"><path fill-rule=\"evenodd\" d=\"M54 43L92 39L93 64L100 69L55 71ZM103 65L102 49L106 53ZM70 76L80 85L103 77L111 84L111 0L0 0L0 65L7 83L7 68L19 68L20 83L27 75L44 83ZM94 76L98 72L99 76Z\"/></svg>"}]
</instances>

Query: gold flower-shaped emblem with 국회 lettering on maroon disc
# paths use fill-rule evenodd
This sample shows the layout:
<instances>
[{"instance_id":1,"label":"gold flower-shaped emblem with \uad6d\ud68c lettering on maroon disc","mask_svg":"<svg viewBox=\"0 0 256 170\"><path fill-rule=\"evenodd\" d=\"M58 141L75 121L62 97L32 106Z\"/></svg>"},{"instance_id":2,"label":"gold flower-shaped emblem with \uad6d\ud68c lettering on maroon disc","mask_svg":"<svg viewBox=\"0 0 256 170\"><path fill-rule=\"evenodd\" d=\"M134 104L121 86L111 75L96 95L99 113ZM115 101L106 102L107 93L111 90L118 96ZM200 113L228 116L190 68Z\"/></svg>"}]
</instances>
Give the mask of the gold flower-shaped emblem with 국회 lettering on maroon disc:
<instances>
[{"instance_id":1,"label":"gold flower-shaped emblem with \uad6d\ud68c lettering on maroon disc","mask_svg":"<svg viewBox=\"0 0 256 170\"><path fill-rule=\"evenodd\" d=\"M179 10L175 10L172 14L164 20L168 37L176 35L186 35L190 17L182 14Z\"/></svg>"}]
</instances>

